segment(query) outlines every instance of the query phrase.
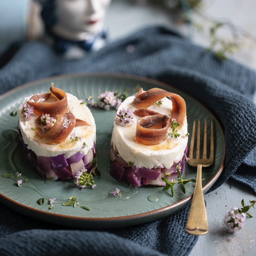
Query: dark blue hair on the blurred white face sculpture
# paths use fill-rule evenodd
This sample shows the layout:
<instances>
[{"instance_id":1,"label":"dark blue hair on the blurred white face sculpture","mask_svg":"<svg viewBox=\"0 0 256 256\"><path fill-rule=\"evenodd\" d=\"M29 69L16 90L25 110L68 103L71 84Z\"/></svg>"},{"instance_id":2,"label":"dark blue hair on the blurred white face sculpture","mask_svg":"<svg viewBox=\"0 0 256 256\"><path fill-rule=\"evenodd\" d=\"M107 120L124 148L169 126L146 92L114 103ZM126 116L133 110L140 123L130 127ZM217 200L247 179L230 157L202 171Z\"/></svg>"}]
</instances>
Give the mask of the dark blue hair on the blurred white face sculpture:
<instances>
[{"instance_id":1,"label":"dark blue hair on the blurred white face sculpture","mask_svg":"<svg viewBox=\"0 0 256 256\"><path fill-rule=\"evenodd\" d=\"M43 9L41 11L41 17L43 19L45 30L47 33L51 33L51 28L57 23L55 8L55 0L48 0L43 5Z\"/></svg>"}]
</instances>

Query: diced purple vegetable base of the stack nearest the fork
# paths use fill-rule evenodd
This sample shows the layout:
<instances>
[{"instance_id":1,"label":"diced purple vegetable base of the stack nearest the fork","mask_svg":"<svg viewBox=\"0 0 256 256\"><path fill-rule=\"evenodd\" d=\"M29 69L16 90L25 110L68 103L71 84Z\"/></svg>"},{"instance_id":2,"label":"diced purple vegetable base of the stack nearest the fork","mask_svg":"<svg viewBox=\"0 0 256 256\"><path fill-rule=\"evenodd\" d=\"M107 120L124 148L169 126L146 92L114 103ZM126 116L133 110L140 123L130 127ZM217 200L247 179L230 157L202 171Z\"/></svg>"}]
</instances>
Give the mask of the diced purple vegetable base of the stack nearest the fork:
<instances>
[{"instance_id":1,"label":"diced purple vegetable base of the stack nearest the fork","mask_svg":"<svg viewBox=\"0 0 256 256\"><path fill-rule=\"evenodd\" d=\"M146 167L138 167L133 164L129 166L129 164L118 154L118 151L110 146L110 158L111 161L114 161L110 175L121 182L125 178L127 182L136 187L140 187L141 185L156 185L156 186L165 186L166 183L162 180L165 177L165 172L168 174L172 174L168 176L168 180L178 178L177 168L176 166L180 164L181 168L180 174L182 175L184 169L184 161L185 155L187 153L187 146L184 151L184 155L182 159L174 164L170 169L166 168L152 168L148 169ZM115 161L116 160L116 161Z\"/></svg>"}]
</instances>

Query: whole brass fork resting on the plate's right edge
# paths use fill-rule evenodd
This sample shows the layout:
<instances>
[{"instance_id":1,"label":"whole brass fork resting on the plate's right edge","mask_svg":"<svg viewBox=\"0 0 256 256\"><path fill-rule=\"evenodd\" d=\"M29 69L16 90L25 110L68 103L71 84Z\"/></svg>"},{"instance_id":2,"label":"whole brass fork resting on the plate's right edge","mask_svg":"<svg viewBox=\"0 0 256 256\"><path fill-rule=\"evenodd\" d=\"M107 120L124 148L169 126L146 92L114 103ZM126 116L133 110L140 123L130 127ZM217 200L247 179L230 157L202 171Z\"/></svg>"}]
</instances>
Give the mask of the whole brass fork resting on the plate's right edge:
<instances>
[{"instance_id":1,"label":"whole brass fork resting on the plate's right edge","mask_svg":"<svg viewBox=\"0 0 256 256\"><path fill-rule=\"evenodd\" d=\"M196 158L193 158L193 149L195 141L195 120L193 125L192 137L189 148L190 158L188 164L197 167L195 191L190 206L190 211L187 219L186 231L192 235L203 235L208 232L208 223L204 204L204 195L202 188L202 167L208 167L214 161L214 141L213 141L213 123L211 120L211 153L210 158L207 158L207 122L204 122L204 148L203 158L200 159L200 120L197 126L197 144L196 144Z\"/></svg>"}]
</instances>

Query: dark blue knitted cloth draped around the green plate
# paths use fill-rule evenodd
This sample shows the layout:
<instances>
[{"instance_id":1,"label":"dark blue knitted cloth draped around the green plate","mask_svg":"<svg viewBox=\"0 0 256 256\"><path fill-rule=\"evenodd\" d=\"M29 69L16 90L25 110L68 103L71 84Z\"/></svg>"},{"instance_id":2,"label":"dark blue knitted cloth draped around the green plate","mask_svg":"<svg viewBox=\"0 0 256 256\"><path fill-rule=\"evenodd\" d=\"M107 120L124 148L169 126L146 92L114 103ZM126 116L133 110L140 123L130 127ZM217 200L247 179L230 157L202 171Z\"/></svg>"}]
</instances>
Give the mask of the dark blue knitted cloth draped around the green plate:
<instances>
[{"instance_id":1,"label":"dark blue knitted cloth draped around the green plate","mask_svg":"<svg viewBox=\"0 0 256 256\"><path fill-rule=\"evenodd\" d=\"M133 52L126 51L128 45L134 46ZM225 130L226 164L211 190L232 177L256 193L255 72L233 61L218 61L168 29L149 27L76 61L63 60L44 43L26 42L0 69L0 94L38 78L84 72L151 77L199 99ZM74 230L0 205L0 254L188 255L197 241L185 232L188 211L134 227Z\"/></svg>"}]
</instances>

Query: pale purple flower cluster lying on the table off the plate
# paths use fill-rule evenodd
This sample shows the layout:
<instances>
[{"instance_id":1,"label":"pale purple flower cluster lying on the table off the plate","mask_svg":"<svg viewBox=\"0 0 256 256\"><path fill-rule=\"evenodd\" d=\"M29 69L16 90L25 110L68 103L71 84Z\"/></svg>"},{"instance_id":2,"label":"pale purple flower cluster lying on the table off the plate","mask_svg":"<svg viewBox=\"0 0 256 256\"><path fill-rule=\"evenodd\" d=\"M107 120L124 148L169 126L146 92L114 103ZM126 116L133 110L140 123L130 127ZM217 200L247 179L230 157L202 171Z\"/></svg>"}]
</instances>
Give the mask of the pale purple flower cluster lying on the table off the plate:
<instances>
[{"instance_id":1,"label":"pale purple flower cluster lying on the table off the plate","mask_svg":"<svg viewBox=\"0 0 256 256\"><path fill-rule=\"evenodd\" d=\"M232 232L241 230L245 224L245 213L239 213L237 207L232 207L224 219L225 226Z\"/></svg>"}]
</instances>

